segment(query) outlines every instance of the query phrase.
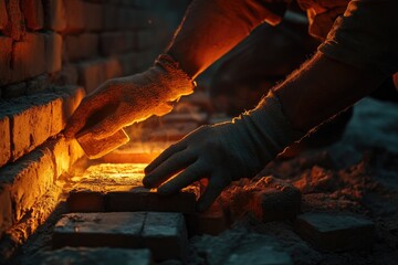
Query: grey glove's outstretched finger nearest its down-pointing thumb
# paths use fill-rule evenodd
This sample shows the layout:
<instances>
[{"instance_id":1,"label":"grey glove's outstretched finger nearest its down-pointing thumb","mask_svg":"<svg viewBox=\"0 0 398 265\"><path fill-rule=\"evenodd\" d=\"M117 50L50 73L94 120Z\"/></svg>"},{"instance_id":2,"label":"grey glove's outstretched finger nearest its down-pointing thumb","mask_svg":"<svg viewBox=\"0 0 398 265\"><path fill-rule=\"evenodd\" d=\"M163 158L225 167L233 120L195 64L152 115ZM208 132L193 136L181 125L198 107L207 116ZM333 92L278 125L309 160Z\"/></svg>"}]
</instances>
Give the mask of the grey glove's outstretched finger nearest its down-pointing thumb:
<instances>
[{"instance_id":1,"label":"grey glove's outstretched finger nearest its down-pointing thumb","mask_svg":"<svg viewBox=\"0 0 398 265\"><path fill-rule=\"evenodd\" d=\"M206 166L199 162L195 162L177 177L159 187L158 192L165 195L177 193L182 188L206 177Z\"/></svg>"}]
</instances>

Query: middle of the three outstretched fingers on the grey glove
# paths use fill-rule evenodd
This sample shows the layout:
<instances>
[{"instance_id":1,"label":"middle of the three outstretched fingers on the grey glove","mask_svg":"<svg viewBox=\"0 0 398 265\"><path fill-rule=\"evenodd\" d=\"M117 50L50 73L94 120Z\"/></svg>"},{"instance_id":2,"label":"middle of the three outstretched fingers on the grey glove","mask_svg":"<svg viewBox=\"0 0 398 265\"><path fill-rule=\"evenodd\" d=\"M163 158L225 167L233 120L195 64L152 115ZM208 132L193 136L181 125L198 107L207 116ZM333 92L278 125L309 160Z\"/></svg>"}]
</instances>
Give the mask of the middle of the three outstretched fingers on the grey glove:
<instances>
[{"instance_id":1,"label":"middle of the three outstretched fingers on the grey glove","mask_svg":"<svg viewBox=\"0 0 398 265\"><path fill-rule=\"evenodd\" d=\"M160 163L154 171L147 174L143 183L148 188L159 187L163 182L171 178L177 172L187 168L195 162L196 155L191 151L184 150L170 156L167 160Z\"/></svg>"}]
</instances>

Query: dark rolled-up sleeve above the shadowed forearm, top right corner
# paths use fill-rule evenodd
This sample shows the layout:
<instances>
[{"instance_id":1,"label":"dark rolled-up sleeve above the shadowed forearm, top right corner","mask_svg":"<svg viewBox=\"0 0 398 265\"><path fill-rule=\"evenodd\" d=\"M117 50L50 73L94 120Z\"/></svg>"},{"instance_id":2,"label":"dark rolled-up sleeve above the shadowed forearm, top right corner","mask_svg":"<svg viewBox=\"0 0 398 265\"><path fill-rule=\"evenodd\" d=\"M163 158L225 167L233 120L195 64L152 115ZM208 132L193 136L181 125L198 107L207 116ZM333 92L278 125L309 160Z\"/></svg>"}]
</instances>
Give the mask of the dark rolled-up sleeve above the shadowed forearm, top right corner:
<instances>
[{"instance_id":1,"label":"dark rolled-up sleeve above the shadowed forearm, top right corner","mask_svg":"<svg viewBox=\"0 0 398 265\"><path fill-rule=\"evenodd\" d=\"M398 72L398 1L350 1L318 51L360 68Z\"/></svg>"}]
</instances>

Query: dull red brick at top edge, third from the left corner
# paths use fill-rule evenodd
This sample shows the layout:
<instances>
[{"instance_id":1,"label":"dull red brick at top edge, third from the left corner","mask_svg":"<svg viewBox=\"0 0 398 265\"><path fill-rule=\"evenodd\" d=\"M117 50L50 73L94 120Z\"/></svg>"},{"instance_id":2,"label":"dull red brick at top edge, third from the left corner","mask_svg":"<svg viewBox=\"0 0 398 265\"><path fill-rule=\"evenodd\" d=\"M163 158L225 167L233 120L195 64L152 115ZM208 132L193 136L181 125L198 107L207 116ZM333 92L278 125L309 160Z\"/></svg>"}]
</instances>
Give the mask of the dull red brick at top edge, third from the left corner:
<instances>
[{"instance_id":1,"label":"dull red brick at top edge, third from the left corner","mask_svg":"<svg viewBox=\"0 0 398 265\"><path fill-rule=\"evenodd\" d=\"M63 0L43 0L44 28L62 32L66 28L66 13Z\"/></svg>"}]
</instances>

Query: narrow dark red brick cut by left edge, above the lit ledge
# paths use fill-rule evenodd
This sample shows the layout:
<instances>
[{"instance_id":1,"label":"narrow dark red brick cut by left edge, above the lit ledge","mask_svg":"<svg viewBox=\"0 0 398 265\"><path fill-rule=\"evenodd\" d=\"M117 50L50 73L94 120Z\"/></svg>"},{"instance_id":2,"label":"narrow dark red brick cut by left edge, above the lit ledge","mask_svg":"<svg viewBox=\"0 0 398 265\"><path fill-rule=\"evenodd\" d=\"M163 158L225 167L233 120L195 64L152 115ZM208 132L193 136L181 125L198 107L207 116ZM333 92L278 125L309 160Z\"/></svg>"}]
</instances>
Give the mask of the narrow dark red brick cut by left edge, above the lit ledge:
<instances>
[{"instance_id":1,"label":"narrow dark red brick cut by left edge, above the lit ledge","mask_svg":"<svg viewBox=\"0 0 398 265\"><path fill-rule=\"evenodd\" d=\"M0 86L11 83L12 39L0 35ZM1 89L1 88L0 88Z\"/></svg>"}]
</instances>

